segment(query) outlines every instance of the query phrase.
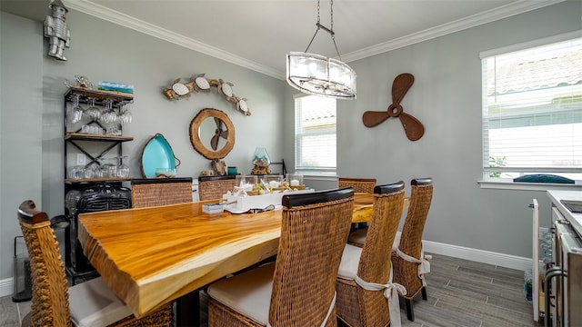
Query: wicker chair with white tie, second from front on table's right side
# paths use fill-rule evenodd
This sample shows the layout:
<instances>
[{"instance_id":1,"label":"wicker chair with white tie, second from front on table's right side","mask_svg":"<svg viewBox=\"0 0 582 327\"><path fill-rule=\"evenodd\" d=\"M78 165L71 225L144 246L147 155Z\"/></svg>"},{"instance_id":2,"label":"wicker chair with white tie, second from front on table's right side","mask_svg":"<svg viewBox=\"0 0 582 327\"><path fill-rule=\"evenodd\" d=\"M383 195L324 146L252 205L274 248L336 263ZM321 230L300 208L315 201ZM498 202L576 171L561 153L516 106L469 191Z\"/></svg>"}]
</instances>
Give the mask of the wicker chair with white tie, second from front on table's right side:
<instances>
[{"instance_id":1,"label":"wicker chair with white tie, second from front on table's right side","mask_svg":"<svg viewBox=\"0 0 582 327\"><path fill-rule=\"evenodd\" d=\"M337 317L348 326L387 326L391 319L400 322L398 285L392 281L390 247L386 244L392 244L396 237L404 189L404 182L376 186L366 243L363 247L346 244L337 273L336 309ZM389 302L396 303L396 312L389 312Z\"/></svg>"}]
</instances>

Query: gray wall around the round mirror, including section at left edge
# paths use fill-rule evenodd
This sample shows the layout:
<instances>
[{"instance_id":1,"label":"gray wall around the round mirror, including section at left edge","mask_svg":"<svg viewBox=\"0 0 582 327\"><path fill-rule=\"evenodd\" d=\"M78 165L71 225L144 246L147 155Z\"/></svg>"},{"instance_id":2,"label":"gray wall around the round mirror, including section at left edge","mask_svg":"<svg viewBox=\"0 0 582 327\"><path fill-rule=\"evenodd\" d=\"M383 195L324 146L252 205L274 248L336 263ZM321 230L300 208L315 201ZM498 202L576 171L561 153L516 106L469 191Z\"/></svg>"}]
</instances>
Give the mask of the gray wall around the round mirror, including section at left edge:
<instances>
[{"instance_id":1,"label":"gray wall around the round mirror, including section at left edge","mask_svg":"<svg viewBox=\"0 0 582 327\"><path fill-rule=\"evenodd\" d=\"M210 169L189 137L190 122L206 107L222 110L235 125L236 144L224 159L227 165L250 173L256 146L266 147L274 162L283 158L284 81L75 11L68 13L67 24L72 36L64 63L45 55L41 22L2 12L0 280L12 276L12 242L20 234L17 205L32 198L49 216L64 213L63 94L65 79L74 80L75 74L95 84L134 84L133 122L124 134L135 139L123 150L135 177L141 177L143 146L156 133L164 134L181 161L178 176L196 178ZM187 80L199 73L235 84L234 94L248 100L252 115L239 114L216 90L179 101L162 94L177 77Z\"/></svg>"}]
</instances>

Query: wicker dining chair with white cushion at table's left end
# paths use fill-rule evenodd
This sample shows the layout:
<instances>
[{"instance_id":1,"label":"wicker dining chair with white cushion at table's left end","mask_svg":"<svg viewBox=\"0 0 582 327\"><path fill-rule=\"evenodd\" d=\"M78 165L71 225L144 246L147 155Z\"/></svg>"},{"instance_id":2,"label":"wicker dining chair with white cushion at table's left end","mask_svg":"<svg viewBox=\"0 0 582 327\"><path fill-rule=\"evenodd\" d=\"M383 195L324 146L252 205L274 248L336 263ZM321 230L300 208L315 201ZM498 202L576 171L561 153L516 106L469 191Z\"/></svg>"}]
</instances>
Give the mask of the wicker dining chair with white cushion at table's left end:
<instances>
[{"instance_id":1,"label":"wicker dining chair with white cushion at table's left end","mask_svg":"<svg viewBox=\"0 0 582 327\"><path fill-rule=\"evenodd\" d=\"M166 304L140 319L99 277L67 288L65 266L46 213L27 200L18 220L30 256L33 298L23 326L173 326L174 313Z\"/></svg>"}]
</instances>

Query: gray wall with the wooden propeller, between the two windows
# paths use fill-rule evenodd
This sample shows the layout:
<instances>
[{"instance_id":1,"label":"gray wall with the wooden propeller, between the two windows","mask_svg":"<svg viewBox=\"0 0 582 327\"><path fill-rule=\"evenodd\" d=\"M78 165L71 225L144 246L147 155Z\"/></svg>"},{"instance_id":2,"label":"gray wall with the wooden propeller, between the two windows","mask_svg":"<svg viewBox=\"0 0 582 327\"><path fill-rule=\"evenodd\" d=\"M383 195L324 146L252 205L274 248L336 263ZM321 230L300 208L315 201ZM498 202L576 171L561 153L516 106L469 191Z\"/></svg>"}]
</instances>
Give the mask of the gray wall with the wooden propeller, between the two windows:
<instances>
[{"instance_id":1,"label":"gray wall with the wooden propeller, between the two windows","mask_svg":"<svg viewBox=\"0 0 582 327\"><path fill-rule=\"evenodd\" d=\"M532 198L549 217L544 192L480 189L481 51L582 28L582 2L568 1L350 63L357 73L356 101L337 104L338 175L406 183L433 177L435 193L424 238L438 243L531 257ZM391 104L392 81L416 81L403 101L405 113L426 128L408 141L398 119L367 128L362 114ZM294 92L288 90L287 99ZM292 100L287 104L291 117ZM286 157L293 154L286 130ZM407 189L409 192L409 186Z\"/></svg>"}]
</instances>

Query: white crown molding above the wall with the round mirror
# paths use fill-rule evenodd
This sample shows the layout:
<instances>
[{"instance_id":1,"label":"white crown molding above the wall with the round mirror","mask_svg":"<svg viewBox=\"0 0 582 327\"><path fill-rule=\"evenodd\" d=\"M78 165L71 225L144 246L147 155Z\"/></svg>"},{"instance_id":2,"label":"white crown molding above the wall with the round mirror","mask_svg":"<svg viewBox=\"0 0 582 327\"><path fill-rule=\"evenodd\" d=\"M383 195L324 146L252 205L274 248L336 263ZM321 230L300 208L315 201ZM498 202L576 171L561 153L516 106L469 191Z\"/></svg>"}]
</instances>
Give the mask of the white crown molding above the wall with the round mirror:
<instances>
[{"instance_id":1,"label":"white crown molding above the wall with the round mirror","mask_svg":"<svg viewBox=\"0 0 582 327\"><path fill-rule=\"evenodd\" d=\"M63 2L65 3L67 9L75 9L76 11L86 15L92 15L107 22L121 25L146 35L157 37L169 43L184 46L199 53L216 57L228 63L236 64L261 74L266 74L278 79L285 79L285 73L281 73L276 69L267 67L263 64L257 64L256 62L247 60L239 55L231 54L212 45L206 45L205 43L196 41L195 39L186 37L185 35L180 35L175 32L166 30L165 28L162 28L158 25L147 23L146 21L137 19L133 16L115 12L114 10L111 10L103 5L97 5L94 2L87 0L64 0Z\"/></svg>"}]
</instances>

